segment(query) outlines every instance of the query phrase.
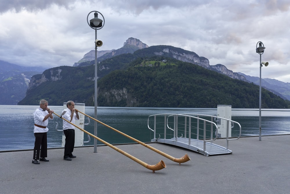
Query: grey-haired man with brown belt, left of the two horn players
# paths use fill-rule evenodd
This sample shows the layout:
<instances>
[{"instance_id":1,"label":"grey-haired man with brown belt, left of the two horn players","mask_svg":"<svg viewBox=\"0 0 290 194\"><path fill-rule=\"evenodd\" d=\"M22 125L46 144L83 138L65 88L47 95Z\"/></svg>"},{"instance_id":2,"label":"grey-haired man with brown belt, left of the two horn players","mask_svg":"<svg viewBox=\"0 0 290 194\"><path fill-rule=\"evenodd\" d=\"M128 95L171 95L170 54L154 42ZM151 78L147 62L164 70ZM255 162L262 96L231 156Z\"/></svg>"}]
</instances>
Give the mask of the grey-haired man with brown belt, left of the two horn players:
<instances>
[{"instance_id":1,"label":"grey-haired man with brown belt, left of the two horn players","mask_svg":"<svg viewBox=\"0 0 290 194\"><path fill-rule=\"evenodd\" d=\"M47 157L47 131L48 128L48 120L52 120L53 111L50 110L48 106L48 102L42 99L39 102L39 108L37 108L34 113L34 136L35 136L35 143L34 143L34 150L33 150L33 164L40 164L39 161L48 162L49 160L46 159ZM40 156L40 159L39 159ZM39 160L39 161L37 161Z\"/></svg>"}]
</instances>

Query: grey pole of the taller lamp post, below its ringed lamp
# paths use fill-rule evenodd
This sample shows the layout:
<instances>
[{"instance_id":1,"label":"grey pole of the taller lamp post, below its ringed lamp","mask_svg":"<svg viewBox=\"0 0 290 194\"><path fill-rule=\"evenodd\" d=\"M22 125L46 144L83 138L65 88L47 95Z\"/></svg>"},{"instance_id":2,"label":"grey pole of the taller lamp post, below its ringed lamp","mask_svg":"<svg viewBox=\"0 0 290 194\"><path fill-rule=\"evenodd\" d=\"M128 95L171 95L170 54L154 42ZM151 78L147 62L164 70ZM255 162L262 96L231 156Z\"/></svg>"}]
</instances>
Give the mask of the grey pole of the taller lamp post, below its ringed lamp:
<instances>
[{"instance_id":1,"label":"grey pole of the taller lamp post, below its ringed lamp","mask_svg":"<svg viewBox=\"0 0 290 194\"><path fill-rule=\"evenodd\" d=\"M95 40L97 40L97 28L95 28ZM95 42L95 119L97 119L97 44ZM94 135L97 136L97 121L94 125ZM94 152L97 152L97 139L94 139Z\"/></svg>"}]
</instances>

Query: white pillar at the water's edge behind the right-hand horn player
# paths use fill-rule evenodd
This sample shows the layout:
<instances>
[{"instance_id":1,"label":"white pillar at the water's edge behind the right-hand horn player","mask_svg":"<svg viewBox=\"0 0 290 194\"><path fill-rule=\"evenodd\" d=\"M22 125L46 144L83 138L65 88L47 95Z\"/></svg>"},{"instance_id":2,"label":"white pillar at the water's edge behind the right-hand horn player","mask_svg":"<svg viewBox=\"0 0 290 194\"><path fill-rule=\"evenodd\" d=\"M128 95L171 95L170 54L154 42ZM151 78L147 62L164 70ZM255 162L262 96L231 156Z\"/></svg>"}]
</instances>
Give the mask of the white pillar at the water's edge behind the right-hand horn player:
<instances>
[{"instance_id":1,"label":"white pillar at the water's edge behind the right-hand horn player","mask_svg":"<svg viewBox=\"0 0 290 194\"><path fill-rule=\"evenodd\" d=\"M64 102L64 109L66 109L66 102ZM75 103L75 109L85 113L85 104L83 103ZM75 125L79 126L81 129L84 129L84 120L85 116L79 113L79 120L75 121ZM62 142L61 147L64 147L66 143L66 136L62 133ZM84 131L81 131L77 127L75 127L75 147L84 145Z\"/></svg>"}]
</instances>

